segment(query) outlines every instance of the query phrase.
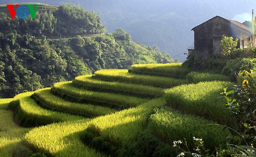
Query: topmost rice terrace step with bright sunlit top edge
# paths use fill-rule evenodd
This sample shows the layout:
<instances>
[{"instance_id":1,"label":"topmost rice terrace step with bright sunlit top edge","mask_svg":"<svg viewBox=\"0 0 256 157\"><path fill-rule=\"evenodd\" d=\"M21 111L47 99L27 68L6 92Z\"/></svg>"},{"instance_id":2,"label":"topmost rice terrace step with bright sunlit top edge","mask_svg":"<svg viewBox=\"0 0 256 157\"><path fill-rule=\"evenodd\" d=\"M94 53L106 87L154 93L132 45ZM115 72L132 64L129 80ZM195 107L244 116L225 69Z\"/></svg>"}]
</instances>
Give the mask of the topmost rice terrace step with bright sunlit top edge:
<instances>
[{"instance_id":1,"label":"topmost rice terrace step with bright sunlit top edge","mask_svg":"<svg viewBox=\"0 0 256 157\"><path fill-rule=\"evenodd\" d=\"M143 75L180 78L189 73L189 69L186 66L182 66L182 63L135 64L132 65L130 72Z\"/></svg>"}]
</instances>

